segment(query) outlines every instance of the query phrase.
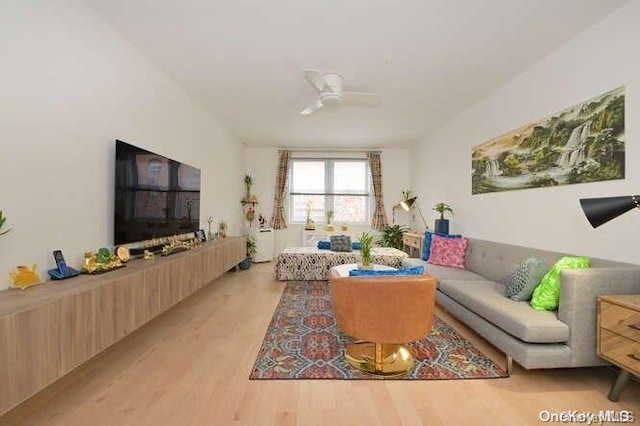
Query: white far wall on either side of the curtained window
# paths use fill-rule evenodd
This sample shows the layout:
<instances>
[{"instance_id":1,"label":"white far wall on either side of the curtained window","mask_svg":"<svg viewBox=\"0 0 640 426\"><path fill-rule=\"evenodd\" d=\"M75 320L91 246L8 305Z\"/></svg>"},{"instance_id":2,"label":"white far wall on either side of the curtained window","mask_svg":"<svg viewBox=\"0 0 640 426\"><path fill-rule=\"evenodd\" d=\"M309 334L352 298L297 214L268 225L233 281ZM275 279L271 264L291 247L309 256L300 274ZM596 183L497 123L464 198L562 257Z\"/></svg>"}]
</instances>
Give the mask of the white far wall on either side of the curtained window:
<instances>
[{"instance_id":1,"label":"white far wall on either side of the curtained window","mask_svg":"<svg viewBox=\"0 0 640 426\"><path fill-rule=\"evenodd\" d=\"M330 152L327 148L327 152ZM339 156L344 156L339 153ZM409 150L385 149L381 150L382 188L387 218L391 222L391 208L402 199L402 191L409 188ZM273 194L275 189L276 171L278 168L277 148L247 148L246 173L255 179L253 192L258 196L260 204L257 211L267 220L271 220L273 212ZM240 204L238 201L238 208ZM398 214L399 223L408 223L410 218L406 214ZM288 219L288 218L287 218ZM287 229L277 230L275 233L275 253L280 253L286 247L297 247L302 242L303 225L289 224Z\"/></svg>"}]
</instances>

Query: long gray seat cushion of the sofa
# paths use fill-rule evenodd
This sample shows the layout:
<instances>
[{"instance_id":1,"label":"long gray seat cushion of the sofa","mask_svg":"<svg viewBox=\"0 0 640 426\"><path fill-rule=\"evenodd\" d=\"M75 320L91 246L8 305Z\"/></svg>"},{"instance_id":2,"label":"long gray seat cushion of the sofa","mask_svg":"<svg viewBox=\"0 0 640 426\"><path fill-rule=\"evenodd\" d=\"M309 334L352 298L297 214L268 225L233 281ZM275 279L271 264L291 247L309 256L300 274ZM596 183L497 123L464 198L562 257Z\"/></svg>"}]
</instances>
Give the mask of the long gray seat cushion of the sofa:
<instances>
[{"instance_id":1,"label":"long gray seat cushion of the sofa","mask_svg":"<svg viewBox=\"0 0 640 426\"><path fill-rule=\"evenodd\" d=\"M536 311L527 302L504 297L504 286L494 281L442 279L438 291L477 315L528 343L561 343L569 340L569 326L555 311Z\"/></svg>"}]
</instances>

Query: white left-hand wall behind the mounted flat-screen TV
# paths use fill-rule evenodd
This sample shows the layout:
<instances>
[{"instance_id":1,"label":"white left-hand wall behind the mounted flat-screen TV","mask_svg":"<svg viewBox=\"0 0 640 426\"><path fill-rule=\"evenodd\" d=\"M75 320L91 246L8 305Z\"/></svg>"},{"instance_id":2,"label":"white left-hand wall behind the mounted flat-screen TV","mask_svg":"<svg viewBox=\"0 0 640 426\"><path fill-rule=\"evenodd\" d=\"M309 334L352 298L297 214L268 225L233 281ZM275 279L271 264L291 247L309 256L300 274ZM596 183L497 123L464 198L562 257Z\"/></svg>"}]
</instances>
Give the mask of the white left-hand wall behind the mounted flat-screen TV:
<instances>
[{"instance_id":1,"label":"white left-hand wall behind the mounted flat-screen TV","mask_svg":"<svg viewBox=\"0 0 640 426\"><path fill-rule=\"evenodd\" d=\"M113 244L116 138L200 168L201 227L239 233L243 147L82 2L4 2L0 40L0 289Z\"/></svg>"}]
</instances>

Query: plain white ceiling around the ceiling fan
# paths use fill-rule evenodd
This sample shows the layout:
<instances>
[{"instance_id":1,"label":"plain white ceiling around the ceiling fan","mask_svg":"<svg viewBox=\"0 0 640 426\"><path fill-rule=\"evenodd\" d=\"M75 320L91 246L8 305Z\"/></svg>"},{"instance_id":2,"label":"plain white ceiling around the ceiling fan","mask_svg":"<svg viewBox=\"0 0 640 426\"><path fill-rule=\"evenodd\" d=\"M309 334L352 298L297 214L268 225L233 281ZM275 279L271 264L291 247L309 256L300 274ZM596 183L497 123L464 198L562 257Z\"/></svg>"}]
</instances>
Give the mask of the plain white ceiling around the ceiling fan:
<instances>
[{"instance_id":1,"label":"plain white ceiling around the ceiling fan","mask_svg":"<svg viewBox=\"0 0 640 426\"><path fill-rule=\"evenodd\" d=\"M86 0L248 146L423 139L626 0ZM377 109L310 116L306 68Z\"/></svg>"}]
</instances>

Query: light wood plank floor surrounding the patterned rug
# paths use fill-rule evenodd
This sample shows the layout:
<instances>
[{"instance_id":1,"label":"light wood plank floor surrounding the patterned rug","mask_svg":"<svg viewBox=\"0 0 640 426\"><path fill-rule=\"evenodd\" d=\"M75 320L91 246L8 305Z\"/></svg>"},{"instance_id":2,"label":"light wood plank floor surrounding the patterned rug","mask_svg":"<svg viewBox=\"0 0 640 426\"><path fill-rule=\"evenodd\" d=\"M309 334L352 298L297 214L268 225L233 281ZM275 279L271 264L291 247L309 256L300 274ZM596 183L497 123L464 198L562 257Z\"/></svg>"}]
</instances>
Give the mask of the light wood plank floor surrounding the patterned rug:
<instances>
[{"instance_id":1,"label":"light wood plank floor surrounding the patterned rug","mask_svg":"<svg viewBox=\"0 0 640 426\"><path fill-rule=\"evenodd\" d=\"M284 283L272 263L230 272L0 417L2 425L526 425L543 410L631 410L606 395L609 368L527 371L507 379L248 379ZM439 312L485 353L499 352ZM0 386L2 384L0 383Z\"/></svg>"}]
</instances>

